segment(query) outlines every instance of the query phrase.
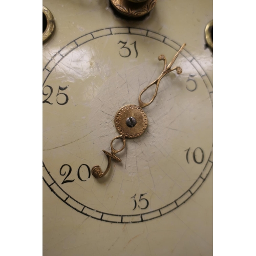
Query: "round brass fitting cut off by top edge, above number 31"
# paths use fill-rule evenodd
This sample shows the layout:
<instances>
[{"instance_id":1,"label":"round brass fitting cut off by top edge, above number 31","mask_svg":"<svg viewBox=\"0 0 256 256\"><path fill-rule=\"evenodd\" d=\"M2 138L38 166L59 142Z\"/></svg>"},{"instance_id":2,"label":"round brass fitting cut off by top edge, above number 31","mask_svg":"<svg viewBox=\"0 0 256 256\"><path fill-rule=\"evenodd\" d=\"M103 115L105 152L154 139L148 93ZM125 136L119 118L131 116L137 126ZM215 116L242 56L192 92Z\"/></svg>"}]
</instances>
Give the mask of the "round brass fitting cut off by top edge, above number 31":
<instances>
[{"instance_id":1,"label":"round brass fitting cut off by top edge, above number 31","mask_svg":"<svg viewBox=\"0 0 256 256\"><path fill-rule=\"evenodd\" d=\"M127 0L111 0L115 9L129 17L140 17L150 12L156 5L157 0L147 0L133 3Z\"/></svg>"}]
</instances>

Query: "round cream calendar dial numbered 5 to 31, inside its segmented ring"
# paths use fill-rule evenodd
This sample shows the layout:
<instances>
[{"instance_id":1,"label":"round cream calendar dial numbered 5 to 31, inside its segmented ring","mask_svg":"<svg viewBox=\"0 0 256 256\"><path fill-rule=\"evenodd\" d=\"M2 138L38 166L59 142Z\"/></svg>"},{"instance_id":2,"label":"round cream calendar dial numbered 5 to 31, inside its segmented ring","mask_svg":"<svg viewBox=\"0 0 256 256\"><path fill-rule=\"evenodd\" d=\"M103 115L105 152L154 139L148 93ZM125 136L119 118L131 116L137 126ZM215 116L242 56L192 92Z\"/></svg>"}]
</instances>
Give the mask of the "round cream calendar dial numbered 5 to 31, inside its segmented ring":
<instances>
[{"instance_id":1,"label":"round cream calendar dial numbered 5 to 31, inside its segmented ring","mask_svg":"<svg viewBox=\"0 0 256 256\"><path fill-rule=\"evenodd\" d=\"M159 76L157 56L171 59L179 47L150 30L105 28L76 38L44 68L44 179L81 214L116 223L151 220L182 205L206 179L212 85L186 50L176 61L182 75L163 78L158 97L144 109L145 134L126 142L123 161L108 176L91 176L92 166L106 166L102 148L118 135L116 112L136 103Z\"/></svg>"}]
</instances>

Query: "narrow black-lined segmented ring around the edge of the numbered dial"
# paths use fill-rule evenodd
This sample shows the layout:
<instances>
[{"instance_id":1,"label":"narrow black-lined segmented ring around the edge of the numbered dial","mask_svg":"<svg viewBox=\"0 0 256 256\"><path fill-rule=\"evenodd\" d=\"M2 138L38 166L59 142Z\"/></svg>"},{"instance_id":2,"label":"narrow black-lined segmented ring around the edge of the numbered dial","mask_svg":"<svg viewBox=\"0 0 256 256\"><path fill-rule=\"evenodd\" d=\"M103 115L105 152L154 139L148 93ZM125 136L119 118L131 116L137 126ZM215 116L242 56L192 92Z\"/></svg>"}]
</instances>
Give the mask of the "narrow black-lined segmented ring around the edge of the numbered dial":
<instances>
[{"instance_id":1,"label":"narrow black-lined segmented ring around the edge of the numbered dial","mask_svg":"<svg viewBox=\"0 0 256 256\"><path fill-rule=\"evenodd\" d=\"M125 30L126 30L126 32L125 32ZM106 31L108 31L108 33L106 33ZM123 31L123 32L120 32L120 31ZM44 72L46 72L45 73L46 79L45 79L45 81L43 83L43 86L44 86L46 80L48 79L49 75L55 69L55 67L61 62L61 60L63 58L68 56L72 51L74 51L75 49L77 49L81 45L86 44L87 42L95 40L97 38L101 38L101 37L105 37L105 36L113 36L113 35L118 35L118 34L123 34L123 35L131 34L131 35L138 35L138 36L144 36L144 37L152 38L154 40L162 42L163 44L165 44L165 45L167 45L167 46L169 46L169 47L171 47L171 48L173 48L175 50L177 50L177 48L179 47L173 40L169 40L166 36L162 36L162 35L160 35L158 33L150 31L150 30L138 29L138 28L132 28L132 27L115 27L115 28L106 28L106 29L102 29L102 30L97 30L97 31L88 33L88 34L86 34L84 36L76 38L75 40L72 41L72 42L74 42L72 47L69 48L69 46L71 46L71 44L72 44L72 42L70 42L67 46L63 47L58 53L56 53L53 56L53 58L47 63L46 68L43 70ZM91 39L82 42L82 38L87 38L88 35L92 36ZM172 44L172 46L170 44ZM184 51L185 51L185 53L183 54L183 52L182 52L181 55L183 55L183 57L185 57L188 61L191 60L191 65L194 64L193 67L195 69L197 69L196 67L199 66L200 67L200 71L201 71L202 67L199 65L199 63L186 50L184 50ZM65 54L63 54L63 52ZM63 54L63 57L61 57L62 56L61 53ZM61 57L61 58L59 58L59 57ZM48 68L47 68L47 66L48 66ZM210 82L207 74L203 75L203 78L204 78L203 81L204 82L206 81L205 86L206 86L206 88L208 90L209 84L211 85L211 82ZM209 159L210 159L210 156L211 156L211 153L209 155ZM211 163L211 166L208 166L207 165L208 163L209 164ZM63 190L55 182L55 180L50 175L50 172L48 172L46 167L45 167L46 172L44 173L43 177L44 177L44 181L49 186L49 188L54 192L55 195L58 196L57 193L58 193L59 190L61 190L62 193L65 193L67 196L65 198L62 198L61 196L58 196L58 197L63 202L65 202L67 205L69 205L73 209L76 209L77 211L79 211L83 215L91 216L94 219L102 220L102 221L106 221L106 222L113 222L113 223L137 223L137 222L152 220L152 219L161 217L162 215L165 215L168 212L173 211L174 209L176 209L177 207L179 207L180 205L185 203L191 196L193 196L195 194L195 192L199 189L199 187L205 181L205 179L208 176L211 168L212 168L212 161L209 160L209 161L206 162L205 167L204 167L202 173L199 175L198 179L194 182L194 184L192 186L190 186L189 189L187 189L176 200L170 202L169 204L166 204L163 207L160 207L160 208L148 211L148 212L144 212L143 214L135 214L135 215L118 215L118 214L111 214L111 213L108 213L108 212L103 212L103 211L95 210L95 209L93 209L91 207L88 207L88 206L78 202L75 198L73 198L72 196L67 194L65 192L65 190ZM204 178L201 177L201 175L203 175ZM201 177L201 179L200 179L200 177ZM49 182L48 182L48 180L49 180ZM202 180L202 183L200 183L200 180ZM55 189L55 187L56 187L56 189ZM187 197L187 193L190 195L189 197ZM77 203L78 206L74 206L75 205L74 202ZM167 210L168 207L169 207L169 209ZM99 214L99 217L94 216L94 215L96 215L97 212ZM131 218L133 218L134 220L131 220Z\"/></svg>"}]
</instances>

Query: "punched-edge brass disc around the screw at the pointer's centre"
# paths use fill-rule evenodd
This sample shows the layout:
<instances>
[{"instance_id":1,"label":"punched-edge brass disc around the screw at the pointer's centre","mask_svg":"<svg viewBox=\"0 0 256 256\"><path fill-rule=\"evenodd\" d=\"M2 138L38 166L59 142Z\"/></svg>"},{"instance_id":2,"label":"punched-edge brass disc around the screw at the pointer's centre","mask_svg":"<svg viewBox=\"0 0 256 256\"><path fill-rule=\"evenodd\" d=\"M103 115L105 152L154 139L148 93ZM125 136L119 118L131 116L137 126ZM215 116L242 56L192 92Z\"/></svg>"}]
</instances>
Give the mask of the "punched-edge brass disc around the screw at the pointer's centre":
<instances>
[{"instance_id":1,"label":"punched-edge brass disc around the screw at the pointer's centre","mask_svg":"<svg viewBox=\"0 0 256 256\"><path fill-rule=\"evenodd\" d=\"M131 117L136 120L134 127L129 127L126 124L126 120ZM136 138L145 132L147 116L140 106L126 105L116 113L114 122L118 133L126 138Z\"/></svg>"}]
</instances>

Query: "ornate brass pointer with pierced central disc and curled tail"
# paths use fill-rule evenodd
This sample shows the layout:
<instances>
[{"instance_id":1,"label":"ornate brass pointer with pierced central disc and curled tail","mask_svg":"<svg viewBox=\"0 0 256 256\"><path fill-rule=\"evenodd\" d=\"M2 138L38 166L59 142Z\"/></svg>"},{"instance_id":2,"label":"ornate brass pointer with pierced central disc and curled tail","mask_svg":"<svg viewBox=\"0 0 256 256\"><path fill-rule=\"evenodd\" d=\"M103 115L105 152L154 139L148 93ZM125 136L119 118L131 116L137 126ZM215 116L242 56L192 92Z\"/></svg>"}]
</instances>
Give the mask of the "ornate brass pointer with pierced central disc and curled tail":
<instances>
[{"instance_id":1,"label":"ornate brass pointer with pierced central disc and curled tail","mask_svg":"<svg viewBox=\"0 0 256 256\"><path fill-rule=\"evenodd\" d=\"M147 116L146 116L146 113L142 110L142 108L144 108L144 106L147 106L153 102L153 100L157 96L159 83L160 83L161 79L166 74L168 74L174 70L176 70L177 74L179 74L179 75L182 73L182 69L180 67L175 67L172 69L172 66L173 66L174 61L176 60L176 58L178 57L178 55L181 53L181 51L184 49L185 46L186 46L186 44L182 45L182 47L176 53L173 60L169 63L168 66L167 66L167 61L166 61L165 56L160 55L158 57L158 60L164 60L163 72L154 82L149 84L146 88L144 88L141 91L141 93L139 95L139 105L125 105L117 112L114 122L115 122L116 129L120 135L115 137L111 141L111 144L110 144L111 145L111 153L103 150L105 155L108 157L108 166L106 167L105 171L102 172L99 165L93 166L92 175L95 178L101 178L109 172L109 169L111 167L112 158L117 160L118 162L122 161L115 154L121 152L125 148L126 138L136 138L145 132L146 127L147 127ZM141 100L142 94L148 88L152 87L154 84L156 84L156 90L155 90L155 93L154 93L152 99L147 103L142 102L142 100ZM122 139L123 145L120 148L120 150L115 150L115 148L113 147L113 142L116 139Z\"/></svg>"}]
</instances>

